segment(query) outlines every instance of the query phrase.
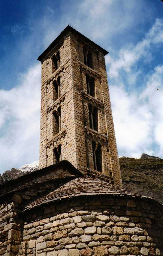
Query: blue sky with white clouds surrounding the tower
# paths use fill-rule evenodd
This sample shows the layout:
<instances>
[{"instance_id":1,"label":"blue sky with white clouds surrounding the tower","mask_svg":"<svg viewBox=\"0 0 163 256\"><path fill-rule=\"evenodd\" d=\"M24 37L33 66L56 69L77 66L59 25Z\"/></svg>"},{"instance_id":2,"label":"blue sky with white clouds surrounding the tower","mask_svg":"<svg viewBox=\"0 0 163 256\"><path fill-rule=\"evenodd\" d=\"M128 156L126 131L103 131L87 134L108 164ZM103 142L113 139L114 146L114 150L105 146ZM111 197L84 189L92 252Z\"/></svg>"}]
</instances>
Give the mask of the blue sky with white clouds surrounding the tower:
<instances>
[{"instance_id":1,"label":"blue sky with white clouds surrounding the tower","mask_svg":"<svg viewBox=\"0 0 163 256\"><path fill-rule=\"evenodd\" d=\"M1 173L39 159L37 58L67 24L109 51L119 156L163 158L163 2L1 0L0 24Z\"/></svg>"}]
</instances>

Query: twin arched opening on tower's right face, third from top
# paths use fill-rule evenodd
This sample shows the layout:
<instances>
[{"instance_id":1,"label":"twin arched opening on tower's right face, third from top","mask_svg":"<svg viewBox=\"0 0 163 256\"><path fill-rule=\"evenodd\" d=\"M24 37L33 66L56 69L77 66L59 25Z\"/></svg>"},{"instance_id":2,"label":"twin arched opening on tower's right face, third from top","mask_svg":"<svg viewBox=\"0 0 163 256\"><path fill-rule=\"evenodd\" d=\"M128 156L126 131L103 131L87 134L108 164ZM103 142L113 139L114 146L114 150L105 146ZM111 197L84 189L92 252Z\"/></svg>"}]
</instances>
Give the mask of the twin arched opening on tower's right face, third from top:
<instances>
[{"instance_id":1,"label":"twin arched opening on tower's right face, third from top","mask_svg":"<svg viewBox=\"0 0 163 256\"><path fill-rule=\"evenodd\" d=\"M98 132L98 109L91 104L88 105L88 109L90 128Z\"/></svg>"}]
</instances>

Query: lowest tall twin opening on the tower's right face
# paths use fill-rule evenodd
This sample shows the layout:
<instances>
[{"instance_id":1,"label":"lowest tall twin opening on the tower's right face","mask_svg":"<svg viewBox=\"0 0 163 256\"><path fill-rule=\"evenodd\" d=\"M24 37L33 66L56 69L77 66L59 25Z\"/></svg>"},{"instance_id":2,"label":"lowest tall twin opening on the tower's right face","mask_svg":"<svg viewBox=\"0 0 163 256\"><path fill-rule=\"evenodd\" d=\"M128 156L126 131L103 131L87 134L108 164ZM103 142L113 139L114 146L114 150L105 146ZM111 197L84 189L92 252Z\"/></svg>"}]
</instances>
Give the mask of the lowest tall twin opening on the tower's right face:
<instances>
[{"instance_id":1,"label":"lowest tall twin opening on the tower's right face","mask_svg":"<svg viewBox=\"0 0 163 256\"><path fill-rule=\"evenodd\" d=\"M102 171L102 150L101 145L92 141L92 151L93 151L93 160L94 160L94 169L98 172Z\"/></svg>"}]
</instances>

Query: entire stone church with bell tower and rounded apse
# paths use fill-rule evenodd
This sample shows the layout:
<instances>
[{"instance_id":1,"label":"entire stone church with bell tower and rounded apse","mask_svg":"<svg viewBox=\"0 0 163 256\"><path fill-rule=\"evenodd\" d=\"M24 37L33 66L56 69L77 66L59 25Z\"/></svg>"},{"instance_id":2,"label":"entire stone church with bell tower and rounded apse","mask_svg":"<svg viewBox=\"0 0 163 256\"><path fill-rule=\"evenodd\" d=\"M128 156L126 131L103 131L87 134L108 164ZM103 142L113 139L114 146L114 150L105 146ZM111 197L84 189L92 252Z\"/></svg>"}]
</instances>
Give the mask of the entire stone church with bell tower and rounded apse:
<instances>
[{"instance_id":1,"label":"entire stone church with bell tower and rounded apse","mask_svg":"<svg viewBox=\"0 0 163 256\"><path fill-rule=\"evenodd\" d=\"M0 255L163 255L163 205L122 186L107 54L67 26L38 57L39 169L0 186Z\"/></svg>"}]
</instances>

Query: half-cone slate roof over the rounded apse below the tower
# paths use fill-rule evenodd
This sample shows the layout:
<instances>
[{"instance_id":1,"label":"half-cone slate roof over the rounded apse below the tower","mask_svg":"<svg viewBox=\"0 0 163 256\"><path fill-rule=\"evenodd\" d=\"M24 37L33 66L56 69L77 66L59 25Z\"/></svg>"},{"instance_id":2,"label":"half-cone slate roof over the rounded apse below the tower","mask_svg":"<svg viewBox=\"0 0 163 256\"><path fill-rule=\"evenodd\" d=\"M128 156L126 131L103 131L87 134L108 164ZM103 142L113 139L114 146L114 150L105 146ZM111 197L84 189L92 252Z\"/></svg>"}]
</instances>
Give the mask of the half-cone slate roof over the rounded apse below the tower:
<instances>
[{"instance_id":1,"label":"half-cone slate roof over the rounded apse below the tower","mask_svg":"<svg viewBox=\"0 0 163 256\"><path fill-rule=\"evenodd\" d=\"M141 197L146 198L145 196L141 196L136 193L132 193L131 191L126 191L119 186L115 186L109 184L103 180L98 178L91 178L88 176L75 178L63 186L57 188L53 192L48 195L32 202L28 206L26 206L24 211L31 210L35 207L43 206L49 203L52 203L56 200L62 199L71 199L78 196L92 196L92 195L114 195L114 196L130 196L130 197Z\"/></svg>"}]
</instances>

